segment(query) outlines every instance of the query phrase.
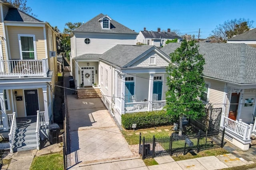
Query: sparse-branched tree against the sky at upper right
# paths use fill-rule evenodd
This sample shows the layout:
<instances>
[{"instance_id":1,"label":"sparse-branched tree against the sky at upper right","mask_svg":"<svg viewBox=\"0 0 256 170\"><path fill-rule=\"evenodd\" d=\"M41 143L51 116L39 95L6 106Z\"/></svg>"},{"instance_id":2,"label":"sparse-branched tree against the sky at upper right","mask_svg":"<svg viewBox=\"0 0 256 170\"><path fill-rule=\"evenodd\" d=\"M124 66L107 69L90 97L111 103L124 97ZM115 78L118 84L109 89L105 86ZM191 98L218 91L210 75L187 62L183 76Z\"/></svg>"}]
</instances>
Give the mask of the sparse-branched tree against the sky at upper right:
<instances>
[{"instance_id":1,"label":"sparse-branched tree against the sky at upper right","mask_svg":"<svg viewBox=\"0 0 256 170\"><path fill-rule=\"evenodd\" d=\"M252 20L245 20L244 18L225 21L219 24L212 31L212 35L218 39L219 42L226 42L227 39L232 38L234 35L239 35L252 28Z\"/></svg>"}]
</instances>

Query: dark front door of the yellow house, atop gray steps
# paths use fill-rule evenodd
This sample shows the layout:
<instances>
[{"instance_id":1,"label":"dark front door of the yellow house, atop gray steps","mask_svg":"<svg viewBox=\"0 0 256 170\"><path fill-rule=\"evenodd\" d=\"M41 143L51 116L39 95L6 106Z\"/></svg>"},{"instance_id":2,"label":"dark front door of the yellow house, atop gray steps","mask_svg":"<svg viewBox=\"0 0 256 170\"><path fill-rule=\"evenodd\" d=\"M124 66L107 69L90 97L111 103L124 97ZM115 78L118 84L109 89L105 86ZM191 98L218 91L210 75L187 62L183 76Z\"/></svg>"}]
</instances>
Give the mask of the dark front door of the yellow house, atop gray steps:
<instances>
[{"instance_id":1,"label":"dark front door of the yellow house, atop gray steps","mask_svg":"<svg viewBox=\"0 0 256 170\"><path fill-rule=\"evenodd\" d=\"M27 116L36 115L36 111L39 110L37 90L24 90L24 94Z\"/></svg>"}]
</instances>

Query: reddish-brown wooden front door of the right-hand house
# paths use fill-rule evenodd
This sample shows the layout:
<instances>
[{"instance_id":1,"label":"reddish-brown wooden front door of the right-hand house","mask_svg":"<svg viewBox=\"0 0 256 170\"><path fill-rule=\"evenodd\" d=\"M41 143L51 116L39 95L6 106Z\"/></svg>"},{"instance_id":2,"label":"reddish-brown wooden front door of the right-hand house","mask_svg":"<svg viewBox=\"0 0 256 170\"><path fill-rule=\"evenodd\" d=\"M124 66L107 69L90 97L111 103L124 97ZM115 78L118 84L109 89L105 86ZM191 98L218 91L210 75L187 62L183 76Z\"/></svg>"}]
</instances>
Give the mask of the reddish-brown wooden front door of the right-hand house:
<instances>
[{"instance_id":1,"label":"reddish-brown wooden front door of the right-hand house","mask_svg":"<svg viewBox=\"0 0 256 170\"><path fill-rule=\"evenodd\" d=\"M230 108L228 113L228 118L236 120L238 113L238 103L239 103L240 93L232 93L230 99Z\"/></svg>"}]
</instances>

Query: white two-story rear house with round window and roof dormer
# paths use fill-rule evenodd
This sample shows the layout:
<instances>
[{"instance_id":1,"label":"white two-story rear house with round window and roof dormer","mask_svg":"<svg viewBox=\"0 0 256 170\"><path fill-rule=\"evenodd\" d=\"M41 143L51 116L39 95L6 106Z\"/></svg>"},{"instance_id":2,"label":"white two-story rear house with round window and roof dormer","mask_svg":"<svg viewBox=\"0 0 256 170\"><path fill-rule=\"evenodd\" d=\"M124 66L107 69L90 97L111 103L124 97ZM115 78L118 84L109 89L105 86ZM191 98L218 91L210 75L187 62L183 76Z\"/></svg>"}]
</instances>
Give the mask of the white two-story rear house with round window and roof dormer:
<instances>
[{"instance_id":1,"label":"white two-story rear house with round window and roof dormer","mask_svg":"<svg viewBox=\"0 0 256 170\"><path fill-rule=\"evenodd\" d=\"M97 56L117 44L135 45L137 35L104 14L99 14L72 31L70 63L76 88L99 84Z\"/></svg>"}]
</instances>

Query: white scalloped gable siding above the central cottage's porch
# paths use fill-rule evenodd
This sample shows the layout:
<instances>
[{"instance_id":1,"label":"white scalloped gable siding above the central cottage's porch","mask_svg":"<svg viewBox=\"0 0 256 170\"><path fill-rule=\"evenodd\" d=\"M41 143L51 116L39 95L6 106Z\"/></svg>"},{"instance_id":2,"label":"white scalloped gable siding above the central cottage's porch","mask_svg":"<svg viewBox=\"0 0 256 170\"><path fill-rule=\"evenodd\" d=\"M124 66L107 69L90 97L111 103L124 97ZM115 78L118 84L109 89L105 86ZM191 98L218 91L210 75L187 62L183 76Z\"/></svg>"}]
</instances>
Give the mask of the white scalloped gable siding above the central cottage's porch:
<instances>
[{"instance_id":1,"label":"white scalloped gable siding above the central cottage's porch","mask_svg":"<svg viewBox=\"0 0 256 170\"><path fill-rule=\"evenodd\" d=\"M150 65L150 57L156 57L156 65ZM136 61L131 66L138 66L138 67L148 67L148 66L168 66L168 62L160 57L155 51L151 51L140 60Z\"/></svg>"}]
</instances>

